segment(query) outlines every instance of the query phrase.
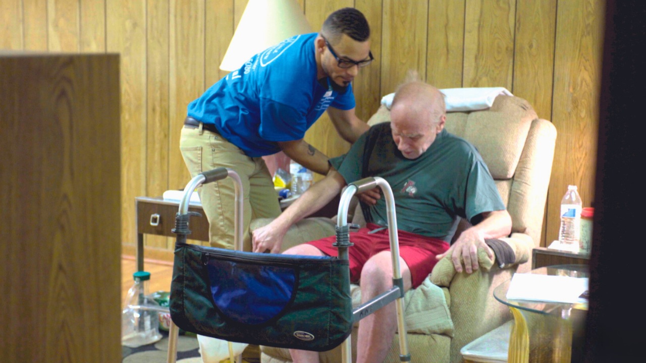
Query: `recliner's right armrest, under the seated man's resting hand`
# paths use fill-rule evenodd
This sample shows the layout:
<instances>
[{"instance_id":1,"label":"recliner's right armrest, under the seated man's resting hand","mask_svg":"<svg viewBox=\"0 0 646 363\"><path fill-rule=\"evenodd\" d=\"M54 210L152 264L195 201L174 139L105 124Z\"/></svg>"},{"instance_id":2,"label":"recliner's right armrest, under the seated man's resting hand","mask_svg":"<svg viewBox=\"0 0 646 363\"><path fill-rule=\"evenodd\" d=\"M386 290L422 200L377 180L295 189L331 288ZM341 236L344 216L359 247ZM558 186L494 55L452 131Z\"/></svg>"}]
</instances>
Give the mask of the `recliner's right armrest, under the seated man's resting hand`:
<instances>
[{"instance_id":1,"label":"recliner's right armrest, under the seated man's resting hand","mask_svg":"<svg viewBox=\"0 0 646 363\"><path fill-rule=\"evenodd\" d=\"M534 241L525 233L512 233L510 237L499 238L499 240L508 244L514 251L515 260L511 264L505 264L501 267L508 269L527 262L531 256ZM481 269L490 271L494 265L494 260L489 258L485 249L478 249L478 264ZM449 287L457 271L451 261L451 254L447 254L439 260L431 273L431 282L438 286ZM464 273L464 272L463 272Z\"/></svg>"}]
</instances>

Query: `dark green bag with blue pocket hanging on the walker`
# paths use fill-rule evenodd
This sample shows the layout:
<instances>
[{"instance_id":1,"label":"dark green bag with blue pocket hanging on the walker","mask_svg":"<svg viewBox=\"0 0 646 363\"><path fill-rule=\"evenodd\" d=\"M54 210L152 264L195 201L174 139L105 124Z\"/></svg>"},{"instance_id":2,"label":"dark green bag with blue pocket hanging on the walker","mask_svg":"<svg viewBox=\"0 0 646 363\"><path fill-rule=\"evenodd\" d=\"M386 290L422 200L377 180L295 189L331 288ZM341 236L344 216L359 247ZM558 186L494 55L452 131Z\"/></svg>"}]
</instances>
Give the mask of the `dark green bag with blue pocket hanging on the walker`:
<instances>
[{"instance_id":1,"label":"dark green bag with blue pocket hanging on the walker","mask_svg":"<svg viewBox=\"0 0 646 363\"><path fill-rule=\"evenodd\" d=\"M175 246L171 318L230 342L326 351L353 323L348 261Z\"/></svg>"}]
</instances>

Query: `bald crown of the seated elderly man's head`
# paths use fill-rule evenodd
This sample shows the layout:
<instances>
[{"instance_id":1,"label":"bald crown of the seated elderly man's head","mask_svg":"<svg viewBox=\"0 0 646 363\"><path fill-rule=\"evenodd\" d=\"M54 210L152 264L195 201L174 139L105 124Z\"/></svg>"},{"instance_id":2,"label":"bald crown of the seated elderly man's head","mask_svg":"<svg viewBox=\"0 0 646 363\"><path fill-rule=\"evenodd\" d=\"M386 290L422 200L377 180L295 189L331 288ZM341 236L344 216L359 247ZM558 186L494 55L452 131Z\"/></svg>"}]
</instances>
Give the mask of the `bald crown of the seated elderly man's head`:
<instances>
[{"instance_id":1,"label":"bald crown of the seated elderly man's head","mask_svg":"<svg viewBox=\"0 0 646 363\"><path fill-rule=\"evenodd\" d=\"M422 81L410 81L397 88L391 110L402 107L415 112L417 116L427 116L428 121L437 124L446 115L444 94L439 89Z\"/></svg>"}]
</instances>

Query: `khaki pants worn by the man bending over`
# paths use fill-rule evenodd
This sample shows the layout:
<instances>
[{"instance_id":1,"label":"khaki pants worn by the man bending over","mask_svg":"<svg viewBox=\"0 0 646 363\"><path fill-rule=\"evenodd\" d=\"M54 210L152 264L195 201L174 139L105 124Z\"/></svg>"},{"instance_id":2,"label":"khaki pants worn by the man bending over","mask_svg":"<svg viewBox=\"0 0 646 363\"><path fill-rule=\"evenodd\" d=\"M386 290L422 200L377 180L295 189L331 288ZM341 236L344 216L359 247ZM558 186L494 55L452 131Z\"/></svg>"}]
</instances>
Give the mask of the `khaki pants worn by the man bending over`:
<instances>
[{"instance_id":1,"label":"khaki pants worn by the man bending over","mask_svg":"<svg viewBox=\"0 0 646 363\"><path fill-rule=\"evenodd\" d=\"M273 218L280 214L278 195L262 158L250 158L219 134L185 125L180 137L180 150L191 177L217 167L233 169L242 180L244 193L242 226L244 251L251 251L249 222L252 218ZM204 184L197 189L204 213L209 220L211 246L234 249L233 180L225 178Z\"/></svg>"}]
</instances>

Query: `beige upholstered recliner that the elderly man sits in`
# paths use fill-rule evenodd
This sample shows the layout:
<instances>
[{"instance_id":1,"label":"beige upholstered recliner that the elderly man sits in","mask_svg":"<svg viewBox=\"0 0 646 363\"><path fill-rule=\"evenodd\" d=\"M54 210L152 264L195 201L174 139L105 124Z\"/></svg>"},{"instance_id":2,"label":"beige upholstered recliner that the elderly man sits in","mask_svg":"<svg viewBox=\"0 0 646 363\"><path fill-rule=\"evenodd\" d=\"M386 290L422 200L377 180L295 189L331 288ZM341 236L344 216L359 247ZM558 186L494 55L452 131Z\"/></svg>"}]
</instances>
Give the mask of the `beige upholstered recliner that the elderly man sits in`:
<instances>
[{"instance_id":1,"label":"beige upholstered recliner that the elderly man sits in","mask_svg":"<svg viewBox=\"0 0 646 363\"><path fill-rule=\"evenodd\" d=\"M390 111L381 106L369 123L375 125L386 121L390 121ZM508 309L495 300L493 291L514 272L530 269L532 248L539 245L541 238L554 156L554 125L539 119L524 99L514 96L498 96L488 110L451 112L447 114L446 129L473 143L494 176L512 216L512 234L503 240L514 249L516 263L500 268L484 251L479 251L481 269L468 275L456 273L448 256L439 261L425 284L432 283L442 288L453 329L432 334L409 332L413 362L462 362L461 347L511 318ZM354 222L362 219L357 213L354 217ZM267 222L255 220L251 227ZM334 234L333 225L334 222L326 218L302 220L288 232L283 248L330 236ZM462 225L464 227L467 223ZM424 288L424 284L418 287ZM427 299L424 291L412 293L415 291L407 293L407 304L425 303L415 301ZM356 329L353 337L355 335ZM354 340L353 344L356 344ZM291 362L286 349L261 347L261 351L264 363ZM353 347L355 354L356 347ZM385 361L399 362L398 354L399 344L395 337ZM340 362L340 347L321 353L321 358L322 362Z\"/></svg>"}]
</instances>

